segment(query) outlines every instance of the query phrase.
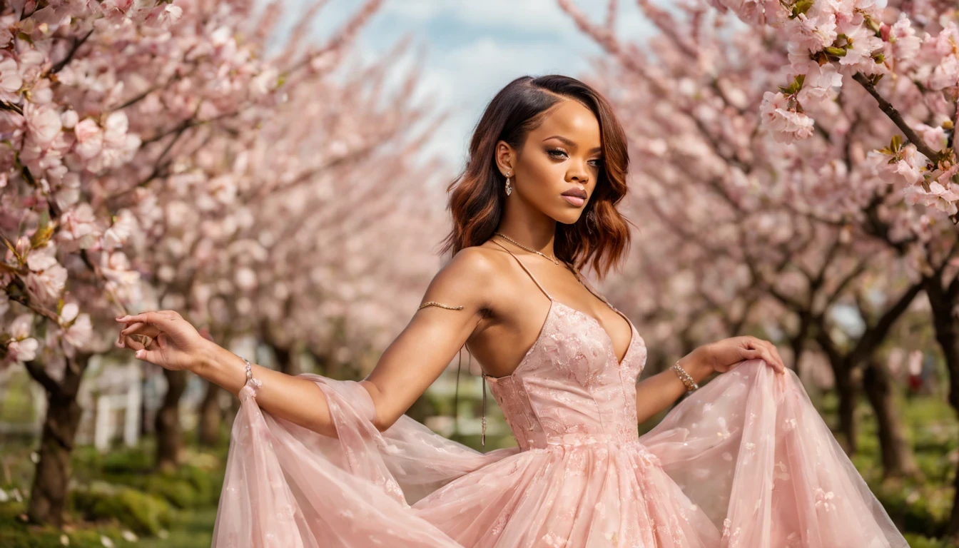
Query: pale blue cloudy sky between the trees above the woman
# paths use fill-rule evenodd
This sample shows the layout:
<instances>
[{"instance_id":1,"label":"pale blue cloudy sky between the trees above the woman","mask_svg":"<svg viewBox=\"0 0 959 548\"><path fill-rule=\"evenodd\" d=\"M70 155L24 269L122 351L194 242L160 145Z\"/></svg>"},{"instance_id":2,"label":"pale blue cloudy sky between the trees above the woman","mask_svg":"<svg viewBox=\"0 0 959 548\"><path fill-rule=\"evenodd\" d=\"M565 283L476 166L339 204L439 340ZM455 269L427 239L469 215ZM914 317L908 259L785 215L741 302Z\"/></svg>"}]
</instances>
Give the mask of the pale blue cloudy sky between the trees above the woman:
<instances>
[{"instance_id":1,"label":"pale blue cloudy sky between the trees above the woman","mask_svg":"<svg viewBox=\"0 0 959 548\"><path fill-rule=\"evenodd\" d=\"M604 20L607 0L573 0L596 22ZM302 12L310 0L291 0L290 12ZM362 0L331 0L316 17L318 41L339 28ZM618 36L642 39L651 25L631 1L620 1ZM596 43L573 26L555 0L386 0L363 29L357 55L381 57L401 37L412 34L425 48L420 96L433 97L450 113L436 128L427 154L438 154L462 167L469 133L483 107L513 79L550 73L579 77L590 70ZM396 73L404 72L402 65Z\"/></svg>"}]
</instances>

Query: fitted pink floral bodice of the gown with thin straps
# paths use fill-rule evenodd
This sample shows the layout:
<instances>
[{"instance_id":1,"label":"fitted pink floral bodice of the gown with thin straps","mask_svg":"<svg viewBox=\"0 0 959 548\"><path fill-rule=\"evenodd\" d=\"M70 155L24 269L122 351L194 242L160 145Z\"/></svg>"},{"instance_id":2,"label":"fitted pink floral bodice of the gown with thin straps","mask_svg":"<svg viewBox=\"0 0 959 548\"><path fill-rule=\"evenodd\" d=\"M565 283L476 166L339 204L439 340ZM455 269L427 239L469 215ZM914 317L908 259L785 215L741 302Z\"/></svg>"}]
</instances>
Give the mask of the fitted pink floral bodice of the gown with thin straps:
<instances>
[{"instance_id":1,"label":"fitted pink floral bodice of the gown with thin straps","mask_svg":"<svg viewBox=\"0 0 959 548\"><path fill-rule=\"evenodd\" d=\"M520 265L550 298L550 310L511 374L483 375L520 448L638 441L636 380L645 366L646 347L636 326L586 286L629 323L632 335L620 363L609 334L595 318L551 298L522 261Z\"/></svg>"}]
</instances>

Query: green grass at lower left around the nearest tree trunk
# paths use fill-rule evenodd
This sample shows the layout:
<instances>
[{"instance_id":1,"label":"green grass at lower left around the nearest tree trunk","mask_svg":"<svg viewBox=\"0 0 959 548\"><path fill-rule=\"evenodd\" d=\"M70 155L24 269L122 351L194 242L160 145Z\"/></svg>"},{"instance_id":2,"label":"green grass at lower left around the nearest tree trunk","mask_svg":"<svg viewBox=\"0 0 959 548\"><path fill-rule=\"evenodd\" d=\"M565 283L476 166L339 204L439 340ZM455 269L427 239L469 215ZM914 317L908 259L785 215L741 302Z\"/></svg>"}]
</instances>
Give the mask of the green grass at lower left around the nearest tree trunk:
<instances>
[{"instance_id":1,"label":"green grass at lower left around the nearest tree trunk","mask_svg":"<svg viewBox=\"0 0 959 548\"><path fill-rule=\"evenodd\" d=\"M71 458L74 487L64 512L64 530L24 523L18 516L26 512L26 501L0 504L0 547L62 546L64 534L71 547L81 548L103 548L101 536L116 548L209 546L222 488L226 436L223 440L222 447L197 450L187 436L183 463L173 472L152 469L152 440L106 454L79 447ZM0 488L8 493L17 488L28 496L34 472L31 450L4 445L0 458L12 481L0 479ZM129 542L125 532L137 540Z\"/></svg>"}]
</instances>

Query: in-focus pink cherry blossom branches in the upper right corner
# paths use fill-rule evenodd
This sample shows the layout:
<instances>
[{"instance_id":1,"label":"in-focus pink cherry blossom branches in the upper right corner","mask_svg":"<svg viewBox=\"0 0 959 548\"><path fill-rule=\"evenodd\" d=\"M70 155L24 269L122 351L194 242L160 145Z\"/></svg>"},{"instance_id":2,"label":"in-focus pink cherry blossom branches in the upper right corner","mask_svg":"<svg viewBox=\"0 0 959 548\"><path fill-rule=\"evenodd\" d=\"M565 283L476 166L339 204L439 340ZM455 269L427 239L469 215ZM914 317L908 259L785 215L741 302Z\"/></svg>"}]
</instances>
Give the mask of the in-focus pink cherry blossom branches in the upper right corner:
<instances>
[{"instance_id":1,"label":"in-focus pink cherry blossom branches in the upper right corner","mask_svg":"<svg viewBox=\"0 0 959 548\"><path fill-rule=\"evenodd\" d=\"M875 149L881 179L905 183L908 203L935 207L959 223L954 3L891 1L883 11L874 0L710 2L754 28L775 29L785 42L789 64L779 91L765 92L760 107L777 140L810 137L823 108L854 81L901 131L886 133L889 145Z\"/></svg>"}]
</instances>

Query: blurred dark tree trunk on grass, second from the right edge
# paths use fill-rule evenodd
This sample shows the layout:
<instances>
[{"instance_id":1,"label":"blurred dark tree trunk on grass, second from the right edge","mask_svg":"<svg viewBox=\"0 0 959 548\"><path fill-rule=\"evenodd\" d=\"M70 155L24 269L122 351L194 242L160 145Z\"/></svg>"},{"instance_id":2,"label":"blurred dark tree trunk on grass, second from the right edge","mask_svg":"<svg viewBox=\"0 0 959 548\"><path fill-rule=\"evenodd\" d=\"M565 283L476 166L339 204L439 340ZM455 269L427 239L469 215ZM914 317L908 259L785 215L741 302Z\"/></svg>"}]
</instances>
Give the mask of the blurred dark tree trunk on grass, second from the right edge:
<instances>
[{"instance_id":1,"label":"blurred dark tree trunk on grass, second from the right edge","mask_svg":"<svg viewBox=\"0 0 959 548\"><path fill-rule=\"evenodd\" d=\"M896 413L891 384L885 364L874 360L863 370L862 388L876 415L883 475L887 478L915 476L919 473L919 466Z\"/></svg>"}]
</instances>

